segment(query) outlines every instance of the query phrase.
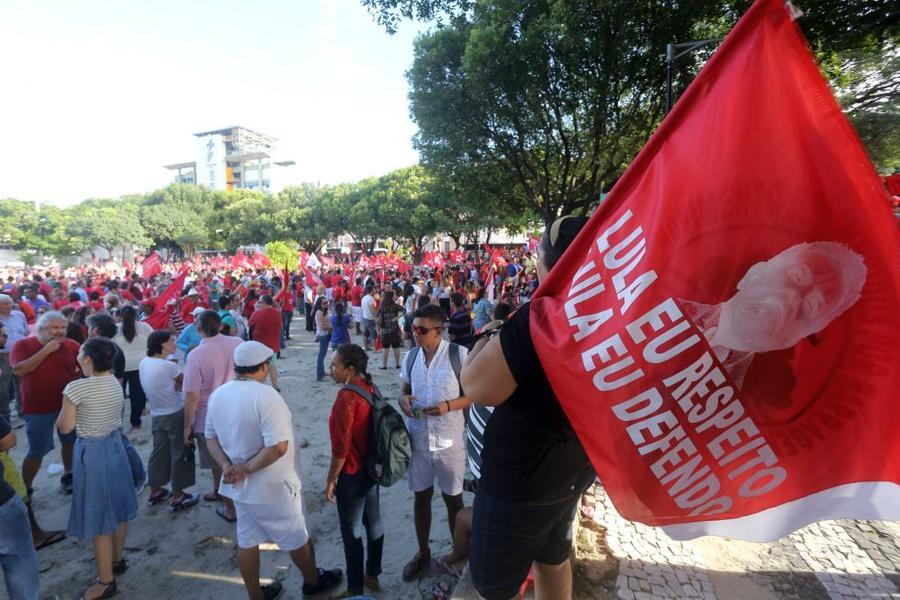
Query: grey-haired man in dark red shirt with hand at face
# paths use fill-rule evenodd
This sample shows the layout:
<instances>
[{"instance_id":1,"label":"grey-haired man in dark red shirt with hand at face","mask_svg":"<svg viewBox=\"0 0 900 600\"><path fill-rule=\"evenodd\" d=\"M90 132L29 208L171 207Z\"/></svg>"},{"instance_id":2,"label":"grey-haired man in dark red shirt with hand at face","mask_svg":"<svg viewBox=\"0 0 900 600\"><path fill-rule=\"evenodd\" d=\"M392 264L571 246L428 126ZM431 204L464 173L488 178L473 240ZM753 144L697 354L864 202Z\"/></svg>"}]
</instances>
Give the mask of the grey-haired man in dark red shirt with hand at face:
<instances>
[{"instance_id":1,"label":"grey-haired man in dark red shirt with hand at face","mask_svg":"<svg viewBox=\"0 0 900 600\"><path fill-rule=\"evenodd\" d=\"M22 463L22 479L31 489L44 456L53 450L53 430L62 408L62 392L78 379L78 343L66 338L66 318L58 312L44 313L37 322L35 337L15 343L9 355L13 373L19 378L19 394L25 415L28 453ZM75 432L57 431L65 472L60 479L63 491L72 493L72 448Z\"/></svg>"}]
</instances>

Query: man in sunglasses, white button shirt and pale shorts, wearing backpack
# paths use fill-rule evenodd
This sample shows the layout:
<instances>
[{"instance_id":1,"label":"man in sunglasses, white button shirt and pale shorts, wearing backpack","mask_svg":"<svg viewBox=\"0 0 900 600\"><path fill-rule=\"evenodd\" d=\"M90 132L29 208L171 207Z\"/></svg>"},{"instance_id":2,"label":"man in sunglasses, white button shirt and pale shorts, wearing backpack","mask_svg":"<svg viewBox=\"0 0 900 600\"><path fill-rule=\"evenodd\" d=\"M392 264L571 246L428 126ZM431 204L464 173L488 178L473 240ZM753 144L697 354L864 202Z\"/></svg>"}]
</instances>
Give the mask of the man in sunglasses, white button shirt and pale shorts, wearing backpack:
<instances>
[{"instance_id":1,"label":"man in sunglasses, white button shirt and pale shorts, wearing backpack","mask_svg":"<svg viewBox=\"0 0 900 600\"><path fill-rule=\"evenodd\" d=\"M418 348L404 359L400 409L408 417L406 427L412 441L409 489L415 495L413 515L419 551L403 568L404 581L411 581L431 561L428 537L431 531L431 497L437 480L447 506L450 537L456 515L463 508L463 475L466 448L463 412L471 402L462 394L458 373L466 348L441 338L444 311L429 304L417 310L413 336Z\"/></svg>"}]
</instances>

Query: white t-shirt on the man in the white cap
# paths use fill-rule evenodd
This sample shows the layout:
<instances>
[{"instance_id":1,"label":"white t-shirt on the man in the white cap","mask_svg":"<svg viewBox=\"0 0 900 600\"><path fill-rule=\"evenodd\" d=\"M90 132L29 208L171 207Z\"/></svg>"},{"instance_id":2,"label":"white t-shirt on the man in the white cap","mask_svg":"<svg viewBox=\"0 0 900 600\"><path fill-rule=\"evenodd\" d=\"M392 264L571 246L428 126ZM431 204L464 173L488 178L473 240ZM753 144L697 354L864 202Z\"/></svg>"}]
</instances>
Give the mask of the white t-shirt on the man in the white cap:
<instances>
[{"instance_id":1,"label":"white t-shirt on the man in the white cap","mask_svg":"<svg viewBox=\"0 0 900 600\"><path fill-rule=\"evenodd\" d=\"M263 448L288 442L287 452L268 467L241 483L223 482L219 488L223 496L266 504L283 497L285 486L300 489L291 410L274 388L249 379L233 379L217 388L209 397L205 435L218 438L232 464L245 463Z\"/></svg>"}]
</instances>

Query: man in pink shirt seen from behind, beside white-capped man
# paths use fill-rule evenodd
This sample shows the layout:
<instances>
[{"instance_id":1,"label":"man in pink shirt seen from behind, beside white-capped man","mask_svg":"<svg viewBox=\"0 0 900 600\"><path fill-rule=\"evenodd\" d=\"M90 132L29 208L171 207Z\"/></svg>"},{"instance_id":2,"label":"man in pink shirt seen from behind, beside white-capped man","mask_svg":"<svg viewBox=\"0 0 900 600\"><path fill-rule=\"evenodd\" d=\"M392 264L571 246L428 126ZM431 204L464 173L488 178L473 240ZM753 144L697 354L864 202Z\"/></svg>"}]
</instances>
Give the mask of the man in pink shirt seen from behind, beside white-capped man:
<instances>
[{"instance_id":1,"label":"man in pink shirt seen from behind, beside white-capped man","mask_svg":"<svg viewBox=\"0 0 900 600\"><path fill-rule=\"evenodd\" d=\"M223 335L222 318L214 310L204 310L197 316L197 331L200 333L200 345L188 354L184 367L184 443L190 445L192 438L197 439L200 454L200 468L212 469L213 491L203 496L206 502L221 501L223 506L216 509L216 514L230 523L237 517L234 504L229 498L219 494L222 481L222 469L210 456L203 432L206 429L206 405L209 395L219 386L227 383L234 376L234 349L241 339Z\"/></svg>"}]
</instances>

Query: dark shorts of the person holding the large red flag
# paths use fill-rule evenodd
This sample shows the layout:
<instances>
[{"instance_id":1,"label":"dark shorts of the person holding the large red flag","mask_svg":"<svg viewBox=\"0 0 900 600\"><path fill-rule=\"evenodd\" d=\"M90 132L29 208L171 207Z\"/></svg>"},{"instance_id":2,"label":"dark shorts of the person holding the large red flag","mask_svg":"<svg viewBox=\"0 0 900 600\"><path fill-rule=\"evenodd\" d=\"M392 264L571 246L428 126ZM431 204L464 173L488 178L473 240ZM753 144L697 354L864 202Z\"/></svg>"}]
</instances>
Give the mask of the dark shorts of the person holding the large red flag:
<instances>
[{"instance_id":1,"label":"dark shorts of the person holding the large red flag","mask_svg":"<svg viewBox=\"0 0 900 600\"><path fill-rule=\"evenodd\" d=\"M558 565L569 558L578 495L552 503L507 502L484 491L472 508L469 570L486 600L519 593L534 561Z\"/></svg>"}]
</instances>

